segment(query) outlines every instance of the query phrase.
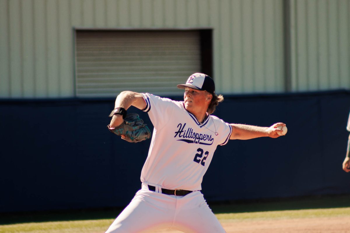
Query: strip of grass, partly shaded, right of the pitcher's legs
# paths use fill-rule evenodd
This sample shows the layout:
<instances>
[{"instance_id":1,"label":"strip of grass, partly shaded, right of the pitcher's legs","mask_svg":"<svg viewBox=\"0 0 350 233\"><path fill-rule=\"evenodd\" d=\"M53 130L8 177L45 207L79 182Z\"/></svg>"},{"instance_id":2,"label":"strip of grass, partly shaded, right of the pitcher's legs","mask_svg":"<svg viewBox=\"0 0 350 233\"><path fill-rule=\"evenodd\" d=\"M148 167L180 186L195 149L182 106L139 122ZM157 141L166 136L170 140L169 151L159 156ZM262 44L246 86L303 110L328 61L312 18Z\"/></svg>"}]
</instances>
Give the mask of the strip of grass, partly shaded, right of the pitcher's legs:
<instances>
[{"instance_id":1,"label":"strip of grass, partly shaded, right of the pitcher's legs","mask_svg":"<svg viewBox=\"0 0 350 233\"><path fill-rule=\"evenodd\" d=\"M350 196L319 196L226 203L211 206L219 220L321 218L350 216Z\"/></svg>"}]
</instances>

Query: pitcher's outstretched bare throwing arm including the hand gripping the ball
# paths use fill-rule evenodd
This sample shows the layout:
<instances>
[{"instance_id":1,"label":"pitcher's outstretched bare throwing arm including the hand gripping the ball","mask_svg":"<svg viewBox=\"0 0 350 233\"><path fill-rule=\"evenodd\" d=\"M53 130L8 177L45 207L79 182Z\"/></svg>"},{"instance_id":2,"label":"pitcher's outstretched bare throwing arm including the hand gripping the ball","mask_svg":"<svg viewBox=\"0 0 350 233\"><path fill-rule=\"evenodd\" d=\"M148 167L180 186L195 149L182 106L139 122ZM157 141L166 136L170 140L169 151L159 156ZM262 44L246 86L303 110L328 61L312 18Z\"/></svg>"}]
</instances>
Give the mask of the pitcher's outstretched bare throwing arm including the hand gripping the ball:
<instances>
[{"instance_id":1,"label":"pitcher's outstretched bare throwing arm including the hand gripping the ball","mask_svg":"<svg viewBox=\"0 0 350 233\"><path fill-rule=\"evenodd\" d=\"M283 130L277 129L278 126L286 126L285 123L275 123L270 127L261 127L254 125L244 125L244 124L230 124L232 126L232 133L230 139L241 139L247 140L252 138L259 137L270 137L278 138L281 135L278 132L282 133Z\"/></svg>"}]
</instances>

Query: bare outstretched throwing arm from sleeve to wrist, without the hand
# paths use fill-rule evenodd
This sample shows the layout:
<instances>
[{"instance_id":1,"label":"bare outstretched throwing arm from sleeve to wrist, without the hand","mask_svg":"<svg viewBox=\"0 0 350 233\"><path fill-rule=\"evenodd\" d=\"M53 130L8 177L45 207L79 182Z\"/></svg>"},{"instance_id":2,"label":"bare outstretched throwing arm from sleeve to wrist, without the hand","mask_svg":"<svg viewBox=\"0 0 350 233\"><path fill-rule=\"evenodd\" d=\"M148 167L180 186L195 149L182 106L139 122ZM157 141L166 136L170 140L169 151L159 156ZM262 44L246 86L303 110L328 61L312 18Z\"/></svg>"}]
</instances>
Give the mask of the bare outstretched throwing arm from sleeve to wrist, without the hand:
<instances>
[{"instance_id":1,"label":"bare outstretched throwing arm from sleeve to wrist, without the hand","mask_svg":"<svg viewBox=\"0 0 350 233\"><path fill-rule=\"evenodd\" d=\"M230 139L247 140L252 138L267 137L268 127L260 127L244 124L230 124L232 126L232 134Z\"/></svg>"}]
</instances>

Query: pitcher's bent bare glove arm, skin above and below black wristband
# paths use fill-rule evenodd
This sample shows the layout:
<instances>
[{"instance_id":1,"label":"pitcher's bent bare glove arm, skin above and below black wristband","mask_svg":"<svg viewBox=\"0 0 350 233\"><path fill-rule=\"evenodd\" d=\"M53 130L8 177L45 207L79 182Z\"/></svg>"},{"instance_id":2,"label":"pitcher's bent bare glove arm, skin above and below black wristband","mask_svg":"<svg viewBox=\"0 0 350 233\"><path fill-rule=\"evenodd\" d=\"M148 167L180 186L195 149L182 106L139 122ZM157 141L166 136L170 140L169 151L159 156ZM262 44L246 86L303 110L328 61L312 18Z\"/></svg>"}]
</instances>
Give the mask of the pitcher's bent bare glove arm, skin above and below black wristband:
<instances>
[{"instance_id":1,"label":"pitcher's bent bare glove arm, skin above and below black wristband","mask_svg":"<svg viewBox=\"0 0 350 233\"><path fill-rule=\"evenodd\" d=\"M146 108L146 102L142 95L137 92L124 91L121 92L114 103L114 108L124 108L127 110L130 106L134 106L138 109ZM123 123L123 116L116 114L112 116L110 127L115 128Z\"/></svg>"}]
</instances>

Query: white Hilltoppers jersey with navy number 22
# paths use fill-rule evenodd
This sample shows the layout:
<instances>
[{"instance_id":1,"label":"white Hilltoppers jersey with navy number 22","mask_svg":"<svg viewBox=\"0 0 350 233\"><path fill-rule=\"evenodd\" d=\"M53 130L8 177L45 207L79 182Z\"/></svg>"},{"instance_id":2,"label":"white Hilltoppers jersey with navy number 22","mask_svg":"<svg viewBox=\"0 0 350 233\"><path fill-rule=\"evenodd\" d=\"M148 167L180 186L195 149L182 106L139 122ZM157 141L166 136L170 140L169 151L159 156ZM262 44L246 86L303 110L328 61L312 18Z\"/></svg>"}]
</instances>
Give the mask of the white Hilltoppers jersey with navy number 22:
<instances>
[{"instance_id":1,"label":"white Hilltoppers jersey with navy number 22","mask_svg":"<svg viewBox=\"0 0 350 233\"><path fill-rule=\"evenodd\" d=\"M142 96L146 101L143 111L148 112L154 130L141 182L167 189L201 190L217 145L225 145L231 136L231 125L211 115L201 124L183 101L148 93Z\"/></svg>"}]
</instances>

